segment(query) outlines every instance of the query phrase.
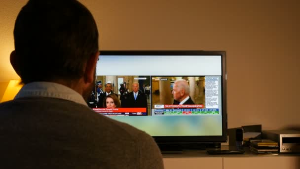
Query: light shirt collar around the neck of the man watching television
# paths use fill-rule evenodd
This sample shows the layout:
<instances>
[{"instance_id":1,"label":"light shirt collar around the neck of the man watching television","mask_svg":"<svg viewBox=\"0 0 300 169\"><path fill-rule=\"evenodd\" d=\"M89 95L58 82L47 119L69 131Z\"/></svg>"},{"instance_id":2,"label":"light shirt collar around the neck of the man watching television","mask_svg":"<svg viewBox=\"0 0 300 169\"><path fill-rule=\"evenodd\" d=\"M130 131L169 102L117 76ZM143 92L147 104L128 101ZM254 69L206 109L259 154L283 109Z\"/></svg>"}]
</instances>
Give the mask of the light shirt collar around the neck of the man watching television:
<instances>
[{"instance_id":1,"label":"light shirt collar around the neck of the man watching television","mask_svg":"<svg viewBox=\"0 0 300 169\"><path fill-rule=\"evenodd\" d=\"M14 99L23 97L51 97L70 100L87 106L82 95L62 84L52 82L33 82L25 84Z\"/></svg>"}]
</instances>

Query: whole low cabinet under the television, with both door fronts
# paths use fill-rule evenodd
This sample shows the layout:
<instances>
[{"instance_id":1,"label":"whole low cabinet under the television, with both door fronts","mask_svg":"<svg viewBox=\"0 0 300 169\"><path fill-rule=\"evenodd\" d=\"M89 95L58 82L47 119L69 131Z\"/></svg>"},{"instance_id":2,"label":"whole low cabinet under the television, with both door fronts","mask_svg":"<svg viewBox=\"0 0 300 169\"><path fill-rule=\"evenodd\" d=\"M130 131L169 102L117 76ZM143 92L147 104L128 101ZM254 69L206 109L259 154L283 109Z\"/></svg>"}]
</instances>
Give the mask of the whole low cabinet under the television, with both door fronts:
<instances>
[{"instance_id":1,"label":"whole low cabinet under the television, with both door fronts","mask_svg":"<svg viewBox=\"0 0 300 169\"><path fill-rule=\"evenodd\" d=\"M300 154L222 156L192 150L163 157L165 169L300 169Z\"/></svg>"}]
</instances>

